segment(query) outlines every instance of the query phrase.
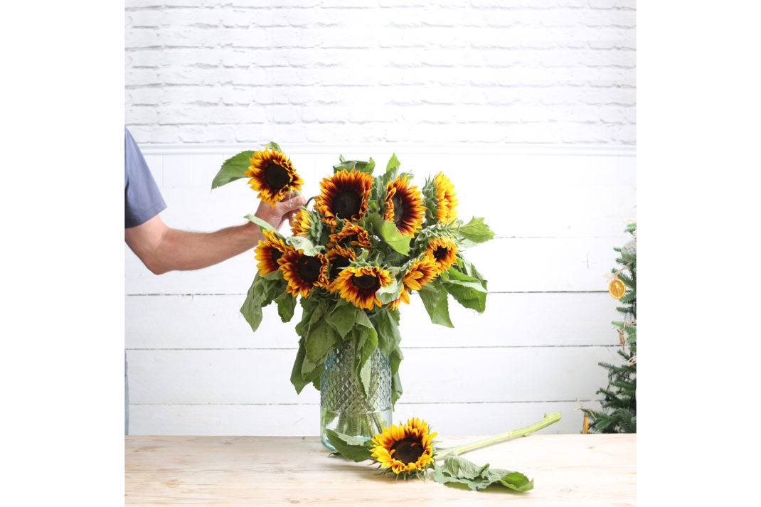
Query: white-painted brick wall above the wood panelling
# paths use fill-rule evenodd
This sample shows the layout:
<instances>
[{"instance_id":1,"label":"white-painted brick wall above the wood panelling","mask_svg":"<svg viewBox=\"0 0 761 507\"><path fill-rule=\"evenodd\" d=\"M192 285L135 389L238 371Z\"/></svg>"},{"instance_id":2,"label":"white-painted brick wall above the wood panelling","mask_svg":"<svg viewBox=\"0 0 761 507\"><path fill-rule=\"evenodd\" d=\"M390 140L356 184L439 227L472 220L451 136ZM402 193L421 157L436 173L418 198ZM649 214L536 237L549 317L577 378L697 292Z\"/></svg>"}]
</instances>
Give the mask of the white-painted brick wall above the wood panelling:
<instances>
[{"instance_id":1,"label":"white-painted brick wall above the wood panelling","mask_svg":"<svg viewBox=\"0 0 761 507\"><path fill-rule=\"evenodd\" d=\"M633 0L126 0L141 143L635 144Z\"/></svg>"}]
</instances>

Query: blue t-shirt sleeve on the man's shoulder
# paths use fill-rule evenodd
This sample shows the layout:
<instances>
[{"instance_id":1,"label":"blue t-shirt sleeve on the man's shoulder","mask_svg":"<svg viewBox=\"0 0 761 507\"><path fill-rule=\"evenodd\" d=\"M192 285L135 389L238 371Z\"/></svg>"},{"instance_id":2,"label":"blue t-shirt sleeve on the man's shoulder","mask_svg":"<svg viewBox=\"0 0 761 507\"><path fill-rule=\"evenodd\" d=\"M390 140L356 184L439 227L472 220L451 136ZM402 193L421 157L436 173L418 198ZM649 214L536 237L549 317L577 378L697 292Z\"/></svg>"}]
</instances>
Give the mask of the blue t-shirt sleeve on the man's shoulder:
<instances>
[{"instance_id":1,"label":"blue t-shirt sleeve on the man's shoulder","mask_svg":"<svg viewBox=\"0 0 761 507\"><path fill-rule=\"evenodd\" d=\"M148 222L167 208L135 139L124 128L124 228Z\"/></svg>"}]
</instances>

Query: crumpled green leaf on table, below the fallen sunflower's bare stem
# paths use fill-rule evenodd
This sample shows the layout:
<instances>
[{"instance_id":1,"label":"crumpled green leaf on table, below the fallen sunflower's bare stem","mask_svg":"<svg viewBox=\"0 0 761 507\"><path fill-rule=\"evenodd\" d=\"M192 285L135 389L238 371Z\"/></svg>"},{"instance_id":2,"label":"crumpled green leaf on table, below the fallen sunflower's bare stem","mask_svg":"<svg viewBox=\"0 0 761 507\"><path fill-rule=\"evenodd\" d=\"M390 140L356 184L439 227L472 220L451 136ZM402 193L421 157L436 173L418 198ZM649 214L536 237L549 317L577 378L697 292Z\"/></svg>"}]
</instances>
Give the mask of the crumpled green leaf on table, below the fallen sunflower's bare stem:
<instances>
[{"instance_id":1,"label":"crumpled green leaf on table, below the fallen sunflower's bare stem","mask_svg":"<svg viewBox=\"0 0 761 507\"><path fill-rule=\"evenodd\" d=\"M482 467L460 458L457 454L447 454L444 464L434 465L434 480L437 483L462 483L478 491L492 484L499 484L514 491L524 492L533 489L533 479L529 480L520 472Z\"/></svg>"}]
</instances>

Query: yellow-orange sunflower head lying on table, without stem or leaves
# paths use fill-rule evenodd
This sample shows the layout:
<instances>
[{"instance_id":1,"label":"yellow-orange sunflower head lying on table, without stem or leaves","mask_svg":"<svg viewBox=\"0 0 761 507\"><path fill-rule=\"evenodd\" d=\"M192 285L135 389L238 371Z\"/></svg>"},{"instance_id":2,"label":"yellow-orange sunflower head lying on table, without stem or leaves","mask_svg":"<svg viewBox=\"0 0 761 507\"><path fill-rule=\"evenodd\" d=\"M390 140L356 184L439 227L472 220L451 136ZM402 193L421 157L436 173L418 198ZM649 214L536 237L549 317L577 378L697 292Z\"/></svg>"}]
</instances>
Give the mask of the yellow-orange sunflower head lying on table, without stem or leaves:
<instances>
[{"instance_id":1,"label":"yellow-orange sunflower head lying on table, without stem or leaves","mask_svg":"<svg viewBox=\"0 0 761 507\"><path fill-rule=\"evenodd\" d=\"M390 468L394 474L416 474L433 463L431 440L435 436L428 423L417 417L408 419L404 426L392 424L372 439L373 456L381 467Z\"/></svg>"}]
</instances>

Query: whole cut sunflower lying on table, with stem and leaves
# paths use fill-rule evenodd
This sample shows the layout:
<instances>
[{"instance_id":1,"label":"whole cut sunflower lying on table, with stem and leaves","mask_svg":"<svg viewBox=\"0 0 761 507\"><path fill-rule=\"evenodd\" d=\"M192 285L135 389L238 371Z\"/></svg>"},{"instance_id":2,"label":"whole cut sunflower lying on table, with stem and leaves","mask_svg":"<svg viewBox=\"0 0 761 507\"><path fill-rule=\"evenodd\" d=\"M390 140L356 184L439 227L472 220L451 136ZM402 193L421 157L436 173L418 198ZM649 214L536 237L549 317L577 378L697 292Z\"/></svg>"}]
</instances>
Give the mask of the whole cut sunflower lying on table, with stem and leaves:
<instances>
[{"instance_id":1,"label":"whole cut sunflower lying on table, with stem and leaves","mask_svg":"<svg viewBox=\"0 0 761 507\"><path fill-rule=\"evenodd\" d=\"M392 473L397 478L428 477L428 470L434 470L433 478L438 483L461 483L470 489L485 489L492 484L505 486L514 491L533 489L533 479L529 480L521 472L490 468L489 464L479 466L472 461L460 458L460 454L478 448L504 442L510 438L527 436L553 422L560 420L560 413L545 414L544 419L534 422L525 428L495 435L456 448L438 451L428 423L421 419L408 419L407 423L399 426L391 425L383 432L375 435L370 441L362 441L348 435L341 435L328 430L330 443L336 448L334 454L339 454L353 461L374 460L383 473ZM443 464L436 461L444 459Z\"/></svg>"}]
</instances>

